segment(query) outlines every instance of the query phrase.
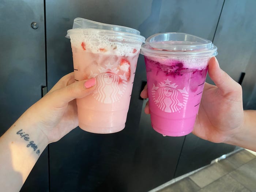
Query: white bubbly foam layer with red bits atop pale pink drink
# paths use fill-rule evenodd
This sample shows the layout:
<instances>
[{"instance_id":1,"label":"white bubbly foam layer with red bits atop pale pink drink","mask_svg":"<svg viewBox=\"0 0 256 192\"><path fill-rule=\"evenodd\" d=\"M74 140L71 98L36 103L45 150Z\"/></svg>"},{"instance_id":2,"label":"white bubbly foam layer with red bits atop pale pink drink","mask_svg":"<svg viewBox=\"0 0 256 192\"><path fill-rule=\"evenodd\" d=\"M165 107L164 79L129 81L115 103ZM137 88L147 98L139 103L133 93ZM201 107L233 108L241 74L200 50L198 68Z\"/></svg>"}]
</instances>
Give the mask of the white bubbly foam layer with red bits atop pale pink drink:
<instances>
[{"instance_id":1,"label":"white bubbly foam layer with red bits atop pale pink drink","mask_svg":"<svg viewBox=\"0 0 256 192\"><path fill-rule=\"evenodd\" d=\"M141 44L131 42L131 39L122 40L120 41L119 39L117 41L114 37L97 34L70 36L71 46L81 50L85 48L86 50L84 51L101 54L116 54L117 56L134 56L139 53ZM83 46L82 43L84 43Z\"/></svg>"}]
</instances>

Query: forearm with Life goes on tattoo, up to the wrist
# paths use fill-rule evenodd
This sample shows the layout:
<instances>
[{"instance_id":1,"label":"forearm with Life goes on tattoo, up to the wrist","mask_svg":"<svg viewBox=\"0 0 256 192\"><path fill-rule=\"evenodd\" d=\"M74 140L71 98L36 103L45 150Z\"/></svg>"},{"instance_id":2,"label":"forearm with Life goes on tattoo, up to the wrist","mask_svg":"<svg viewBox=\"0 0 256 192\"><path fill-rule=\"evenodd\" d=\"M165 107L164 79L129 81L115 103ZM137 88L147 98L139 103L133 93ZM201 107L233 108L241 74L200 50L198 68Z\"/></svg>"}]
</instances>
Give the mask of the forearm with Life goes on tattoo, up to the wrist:
<instances>
[{"instance_id":1,"label":"forearm with Life goes on tattoo, up to the wrist","mask_svg":"<svg viewBox=\"0 0 256 192\"><path fill-rule=\"evenodd\" d=\"M48 145L45 135L31 122L23 114L0 138L0 186L5 192L20 190Z\"/></svg>"}]
</instances>

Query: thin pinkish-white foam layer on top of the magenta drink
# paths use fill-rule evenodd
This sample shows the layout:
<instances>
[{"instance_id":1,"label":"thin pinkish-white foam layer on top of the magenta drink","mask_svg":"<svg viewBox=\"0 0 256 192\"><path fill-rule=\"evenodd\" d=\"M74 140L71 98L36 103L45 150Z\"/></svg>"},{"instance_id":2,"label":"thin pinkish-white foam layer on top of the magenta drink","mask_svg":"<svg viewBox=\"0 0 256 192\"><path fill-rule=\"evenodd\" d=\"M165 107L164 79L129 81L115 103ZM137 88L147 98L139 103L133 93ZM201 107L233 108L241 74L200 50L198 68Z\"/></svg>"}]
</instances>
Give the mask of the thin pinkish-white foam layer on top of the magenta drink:
<instances>
[{"instance_id":1,"label":"thin pinkish-white foam layer on top of the magenta drink","mask_svg":"<svg viewBox=\"0 0 256 192\"><path fill-rule=\"evenodd\" d=\"M147 57L147 56L146 56ZM172 57L169 59L156 58L156 57L147 57L150 60L159 62L161 64L170 65L170 63L182 63L184 68L195 68L203 69L208 65L210 58L200 58L200 59L188 59L182 57Z\"/></svg>"}]
</instances>

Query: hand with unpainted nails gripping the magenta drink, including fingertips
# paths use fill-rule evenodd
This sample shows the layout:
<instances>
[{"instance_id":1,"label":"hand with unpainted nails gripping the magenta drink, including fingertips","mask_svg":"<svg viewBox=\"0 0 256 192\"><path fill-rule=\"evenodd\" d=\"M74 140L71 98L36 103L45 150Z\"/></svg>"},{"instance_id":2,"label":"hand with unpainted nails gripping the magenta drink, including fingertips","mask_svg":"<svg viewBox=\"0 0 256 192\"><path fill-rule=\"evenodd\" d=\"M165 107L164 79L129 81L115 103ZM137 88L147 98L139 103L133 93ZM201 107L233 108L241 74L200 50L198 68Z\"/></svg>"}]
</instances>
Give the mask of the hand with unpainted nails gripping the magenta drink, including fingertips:
<instances>
[{"instance_id":1,"label":"hand with unpainted nails gripping the magenta drink, including fingertips","mask_svg":"<svg viewBox=\"0 0 256 192\"><path fill-rule=\"evenodd\" d=\"M215 57L209 61L208 74L216 86L205 83L193 134L215 143L228 142L244 125L242 88L224 72ZM147 85L140 94L147 98ZM150 113L148 102L144 109Z\"/></svg>"}]
</instances>

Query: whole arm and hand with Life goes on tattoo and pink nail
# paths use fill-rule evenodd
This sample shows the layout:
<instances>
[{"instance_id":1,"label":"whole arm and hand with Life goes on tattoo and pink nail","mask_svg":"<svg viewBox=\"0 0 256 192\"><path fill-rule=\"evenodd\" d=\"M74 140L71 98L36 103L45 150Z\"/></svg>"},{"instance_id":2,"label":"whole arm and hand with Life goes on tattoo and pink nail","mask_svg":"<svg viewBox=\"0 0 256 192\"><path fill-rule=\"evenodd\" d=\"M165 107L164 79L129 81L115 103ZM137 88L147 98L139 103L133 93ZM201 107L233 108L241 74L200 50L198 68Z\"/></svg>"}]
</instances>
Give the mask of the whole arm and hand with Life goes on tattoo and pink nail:
<instances>
[{"instance_id":1,"label":"whole arm and hand with Life goes on tattoo and pink nail","mask_svg":"<svg viewBox=\"0 0 256 192\"><path fill-rule=\"evenodd\" d=\"M75 82L74 72L64 76L1 136L3 191L19 191L45 147L78 126L76 98L92 93L94 84L94 78Z\"/></svg>"}]
</instances>

